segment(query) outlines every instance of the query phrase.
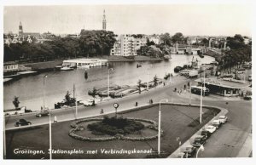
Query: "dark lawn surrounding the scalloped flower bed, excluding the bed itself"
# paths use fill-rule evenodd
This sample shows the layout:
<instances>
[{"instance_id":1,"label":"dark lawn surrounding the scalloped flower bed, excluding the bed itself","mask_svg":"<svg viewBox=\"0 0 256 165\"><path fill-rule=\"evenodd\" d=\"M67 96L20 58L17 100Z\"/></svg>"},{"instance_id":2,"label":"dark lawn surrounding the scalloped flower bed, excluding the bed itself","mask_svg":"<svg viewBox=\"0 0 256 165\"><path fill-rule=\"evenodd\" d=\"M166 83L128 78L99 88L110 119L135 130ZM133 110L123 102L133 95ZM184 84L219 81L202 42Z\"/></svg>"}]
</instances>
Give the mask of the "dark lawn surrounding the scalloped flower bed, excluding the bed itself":
<instances>
[{"instance_id":1,"label":"dark lawn surrounding the scalloped flower bed, excluding the bed itself","mask_svg":"<svg viewBox=\"0 0 256 165\"><path fill-rule=\"evenodd\" d=\"M159 106L154 106L148 109L140 111L129 111L127 113L119 114L123 117L136 117L147 118L158 122ZM164 135L161 137L161 151L165 152L165 155L170 155L177 149L178 142L177 137L181 139L182 143L189 139L192 134L201 128L206 122L212 119L214 113L218 110L203 108L203 120L201 125L197 124L195 120L199 118L199 107L189 107L180 105L161 105L161 128L164 131ZM213 113L214 111L214 113ZM114 114L109 115L113 117ZM157 151L157 139L148 141L125 141L125 140L113 140L105 142L85 142L73 139L68 136L68 131L71 129L69 122L58 122L52 124L52 148L55 150L81 150L84 154L54 154L55 159L90 159L90 158L145 158L148 154L102 154L101 149L105 150L150 150ZM152 134L145 132L142 135ZM40 127L30 128L19 131L7 132L7 158L19 159L19 158L49 158L47 154L49 148L49 126L44 125ZM86 135L86 134L83 134ZM26 155L15 154L15 149L28 149L28 150L43 150L44 154L41 155ZM88 151L97 151L93 154Z\"/></svg>"}]
</instances>

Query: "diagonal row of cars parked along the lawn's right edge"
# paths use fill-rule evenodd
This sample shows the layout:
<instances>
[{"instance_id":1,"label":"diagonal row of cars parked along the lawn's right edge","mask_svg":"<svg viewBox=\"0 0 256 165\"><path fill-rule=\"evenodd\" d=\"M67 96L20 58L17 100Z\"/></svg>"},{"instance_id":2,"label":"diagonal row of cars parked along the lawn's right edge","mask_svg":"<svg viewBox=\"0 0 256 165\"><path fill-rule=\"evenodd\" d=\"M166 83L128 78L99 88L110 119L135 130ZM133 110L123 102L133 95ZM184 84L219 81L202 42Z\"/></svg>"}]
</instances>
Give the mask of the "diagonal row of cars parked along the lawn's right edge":
<instances>
[{"instance_id":1,"label":"diagonal row of cars parked along the lawn's right edge","mask_svg":"<svg viewBox=\"0 0 256 165\"><path fill-rule=\"evenodd\" d=\"M207 128L204 128L201 131L201 134L197 135L194 139L192 145L187 145L184 151L178 153L178 158L188 158L195 156L197 150L201 145L205 145L207 139L211 137L211 135L220 128L225 122L228 122L228 117L219 116L217 120L213 120L212 124L208 125Z\"/></svg>"}]
</instances>

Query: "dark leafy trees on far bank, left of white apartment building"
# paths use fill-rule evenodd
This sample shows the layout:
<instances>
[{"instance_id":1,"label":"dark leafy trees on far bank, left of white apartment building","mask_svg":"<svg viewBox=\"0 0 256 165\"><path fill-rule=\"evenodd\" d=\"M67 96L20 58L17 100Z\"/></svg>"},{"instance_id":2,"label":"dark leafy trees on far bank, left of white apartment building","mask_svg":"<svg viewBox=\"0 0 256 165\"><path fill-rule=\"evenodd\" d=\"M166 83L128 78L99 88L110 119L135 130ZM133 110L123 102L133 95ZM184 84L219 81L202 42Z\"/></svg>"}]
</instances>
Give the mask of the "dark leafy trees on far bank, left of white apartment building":
<instances>
[{"instance_id":1,"label":"dark leafy trees on far bank, left of white apartment building","mask_svg":"<svg viewBox=\"0 0 256 165\"><path fill-rule=\"evenodd\" d=\"M44 43L4 44L3 60L38 62L109 55L115 42L113 31L84 31L80 37L55 37Z\"/></svg>"}]
</instances>

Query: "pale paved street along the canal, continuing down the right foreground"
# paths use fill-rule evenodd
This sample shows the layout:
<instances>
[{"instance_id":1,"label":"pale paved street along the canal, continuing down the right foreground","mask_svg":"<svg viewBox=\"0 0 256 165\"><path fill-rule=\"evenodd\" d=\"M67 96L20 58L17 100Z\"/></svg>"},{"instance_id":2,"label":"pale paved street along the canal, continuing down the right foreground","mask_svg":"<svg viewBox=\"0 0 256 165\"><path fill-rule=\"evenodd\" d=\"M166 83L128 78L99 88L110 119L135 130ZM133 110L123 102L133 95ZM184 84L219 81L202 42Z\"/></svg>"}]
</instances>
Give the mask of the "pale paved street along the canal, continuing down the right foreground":
<instances>
[{"instance_id":1,"label":"pale paved street along the canal, continuing down the right foreground","mask_svg":"<svg viewBox=\"0 0 256 165\"><path fill-rule=\"evenodd\" d=\"M162 99L169 99L169 102L189 103L189 92L177 94L173 92L174 88L183 88L190 80L184 77L177 77L175 82L162 88L154 88L142 94L133 94L117 100L109 100L95 107L78 108L78 117L90 117L100 115L101 109L105 113L113 112L113 103L119 103L119 110L148 104L148 100L153 99L154 103ZM200 96L192 94L192 104L200 104ZM227 116L230 121L224 124L212 137L207 140L205 151L200 152L201 157L236 157L241 155L241 147L245 143L252 131L252 101L229 99L222 96L210 95L203 100L203 105L212 105L226 108L229 113ZM71 120L75 117L75 108L66 110L52 111L52 120L56 116L58 121ZM26 114L24 116L6 117L6 128L14 128L14 123L20 118L32 122L32 124L48 123L49 117L35 117L35 114ZM249 144L252 147L252 144Z\"/></svg>"}]
</instances>

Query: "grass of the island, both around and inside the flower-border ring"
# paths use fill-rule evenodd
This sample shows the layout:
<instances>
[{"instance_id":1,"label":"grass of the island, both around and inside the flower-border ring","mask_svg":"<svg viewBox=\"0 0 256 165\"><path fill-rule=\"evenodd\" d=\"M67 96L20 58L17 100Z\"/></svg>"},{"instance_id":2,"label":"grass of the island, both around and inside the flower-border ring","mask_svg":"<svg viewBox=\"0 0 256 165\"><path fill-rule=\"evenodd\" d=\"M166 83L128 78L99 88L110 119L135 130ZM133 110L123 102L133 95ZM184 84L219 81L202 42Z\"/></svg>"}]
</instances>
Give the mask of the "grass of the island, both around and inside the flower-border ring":
<instances>
[{"instance_id":1,"label":"grass of the island, both around and inside the flower-border ring","mask_svg":"<svg viewBox=\"0 0 256 165\"><path fill-rule=\"evenodd\" d=\"M147 158L147 157L167 157L176 151L179 141L186 141L214 115L220 111L214 107L203 107L202 111L207 114L201 124L189 127L189 123L197 121L200 112L199 105L166 104L161 105L161 129L163 135L160 141L160 156L157 156L158 139L149 140L124 140L113 139L108 141L84 141L73 139L69 136L71 124L79 120L87 120L96 117L89 117L74 121L56 122L52 124L52 153L54 159L108 159L108 158ZM158 122L159 104L151 104L129 110L119 110L117 117L146 119ZM108 117L115 117L115 113L110 113ZM102 119L101 119L102 120ZM96 121L84 122L86 125ZM152 123L142 122L145 126ZM82 125L84 123L81 123ZM77 123L77 125L79 125ZM75 125L73 125L74 128ZM84 125L85 126L85 125ZM86 128L86 126L84 128ZM79 129L80 129L79 128ZM149 128L142 131L142 134L129 134L131 138L145 138L154 136L157 131ZM109 137L110 135L95 135L90 131L78 131L79 136L84 137ZM128 135L127 135L128 136ZM119 136L120 137L120 136ZM6 132L7 158L8 159L48 159L49 158L49 125L42 125L37 129L19 129ZM178 139L178 140L177 140ZM19 151L43 151L43 153L25 154Z\"/></svg>"}]
</instances>

